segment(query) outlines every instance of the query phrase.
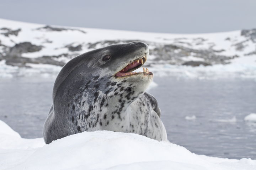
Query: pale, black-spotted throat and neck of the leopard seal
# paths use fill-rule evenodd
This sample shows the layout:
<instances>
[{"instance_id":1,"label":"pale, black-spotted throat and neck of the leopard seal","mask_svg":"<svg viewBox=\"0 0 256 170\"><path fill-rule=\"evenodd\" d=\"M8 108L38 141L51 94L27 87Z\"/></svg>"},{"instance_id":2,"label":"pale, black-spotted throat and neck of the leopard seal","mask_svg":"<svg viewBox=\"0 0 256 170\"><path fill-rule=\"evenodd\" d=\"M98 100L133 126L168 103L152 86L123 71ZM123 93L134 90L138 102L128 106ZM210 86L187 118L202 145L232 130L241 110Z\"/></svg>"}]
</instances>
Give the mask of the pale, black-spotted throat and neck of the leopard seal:
<instances>
[{"instance_id":1,"label":"pale, black-spotted throat and neck of the leopard seal","mask_svg":"<svg viewBox=\"0 0 256 170\"><path fill-rule=\"evenodd\" d=\"M71 90L70 84L66 86L64 93L55 98L54 105L62 105L57 107L55 113L59 117L68 114L68 122L79 127L78 131L100 130L108 124L126 119L129 115L125 111L146 89L136 82L99 76L77 83L80 86L74 84Z\"/></svg>"}]
</instances>

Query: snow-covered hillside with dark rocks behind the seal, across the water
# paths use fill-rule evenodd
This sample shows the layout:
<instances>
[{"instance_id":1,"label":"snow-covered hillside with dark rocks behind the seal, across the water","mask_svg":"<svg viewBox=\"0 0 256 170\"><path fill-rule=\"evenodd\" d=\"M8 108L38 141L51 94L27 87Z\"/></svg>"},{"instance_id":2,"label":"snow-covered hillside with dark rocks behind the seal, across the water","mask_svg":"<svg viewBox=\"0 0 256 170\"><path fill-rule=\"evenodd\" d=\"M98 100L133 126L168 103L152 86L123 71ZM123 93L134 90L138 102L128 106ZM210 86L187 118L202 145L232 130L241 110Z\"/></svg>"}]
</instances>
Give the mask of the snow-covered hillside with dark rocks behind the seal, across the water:
<instances>
[{"instance_id":1,"label":"snow-covered hillside with dark rocks behind the seal, across the water","mask_svg":"<svg viewBox=\"0 0 256 170\"><path fill-rule=\"evenodd\" d=\"M131 41L149 45L146 67L186 77L256 77L256 29L162 34L47 26L0 19L0 77L57 74L71 58Z\"/></svg>"}]
</instances>

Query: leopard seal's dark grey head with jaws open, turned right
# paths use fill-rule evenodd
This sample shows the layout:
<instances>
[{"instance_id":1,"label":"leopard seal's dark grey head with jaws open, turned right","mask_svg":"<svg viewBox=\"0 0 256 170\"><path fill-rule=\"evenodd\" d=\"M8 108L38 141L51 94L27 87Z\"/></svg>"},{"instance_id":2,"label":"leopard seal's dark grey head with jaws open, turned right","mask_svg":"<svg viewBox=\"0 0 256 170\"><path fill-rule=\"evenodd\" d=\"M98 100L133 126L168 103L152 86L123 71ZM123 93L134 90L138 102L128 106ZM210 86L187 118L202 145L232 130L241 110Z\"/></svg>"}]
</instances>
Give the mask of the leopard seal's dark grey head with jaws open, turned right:
<instances>
[{"instance_id":1,"label":"leopard seal's dark grey head with jaws open, turned right","mask_svg":"<svg viewBox=\"0 0 256 170\"><path fill-rule=\"evenodd\" d=\"M145 43L130 42L106 46L75 57L60 71L54 84L53 100L67 79L69 83L73 83L73 88L79 88L81 84L94 79L99 79L102 83L108 79L116 83L126 82L127 86L133 83L138 91L144 92L153 79L153 73L144 68L143 72L133 71L143 66L148 53Z\"/></svg>"}]
</instances>

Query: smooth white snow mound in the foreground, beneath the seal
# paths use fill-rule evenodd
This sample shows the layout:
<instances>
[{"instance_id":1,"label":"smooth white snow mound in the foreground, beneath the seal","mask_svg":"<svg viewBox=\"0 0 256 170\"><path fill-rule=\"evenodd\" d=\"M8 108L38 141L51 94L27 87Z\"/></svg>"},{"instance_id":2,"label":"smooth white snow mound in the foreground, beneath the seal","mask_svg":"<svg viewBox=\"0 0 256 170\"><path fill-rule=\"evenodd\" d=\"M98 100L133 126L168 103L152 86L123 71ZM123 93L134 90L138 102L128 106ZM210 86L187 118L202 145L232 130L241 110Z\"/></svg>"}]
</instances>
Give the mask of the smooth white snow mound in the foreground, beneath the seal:
<instances>
[{"instance_id":1,"label":"smooth white snow mound in the foreground, beneath the seal","mask_svg":"<svg viewBox=\"0 0 256 170\"><path fill-rule=\"evenodd\" d=\"M44 145L42 138L23 139L0 121L0 137L0 169L6 170L256 169L256 160L196 155L184 147L137 134L82 132Z\"/></svg>"}]
</instances>

